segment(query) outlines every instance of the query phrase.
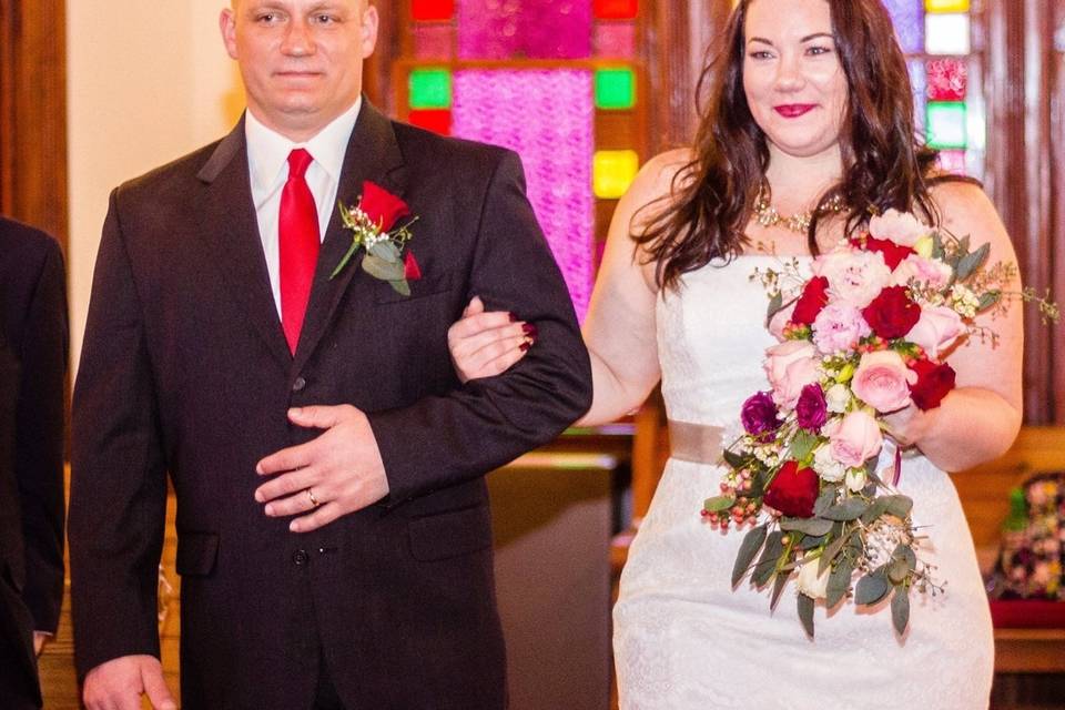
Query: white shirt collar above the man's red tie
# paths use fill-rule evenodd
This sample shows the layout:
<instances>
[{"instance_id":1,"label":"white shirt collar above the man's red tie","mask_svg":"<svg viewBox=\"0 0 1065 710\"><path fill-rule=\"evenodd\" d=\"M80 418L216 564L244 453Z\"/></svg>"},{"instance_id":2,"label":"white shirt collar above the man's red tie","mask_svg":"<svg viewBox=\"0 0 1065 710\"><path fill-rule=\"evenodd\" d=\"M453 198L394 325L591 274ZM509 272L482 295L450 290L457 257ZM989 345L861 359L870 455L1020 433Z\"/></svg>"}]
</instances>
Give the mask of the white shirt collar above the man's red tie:
<instances>
[{"instance_id":1,"label":"white shirt collar above the man's red tie","mask_svg":"<svg viewBox=\"0 0 1065 710\"><path fill-rule=\"evenodd\" d=\"M288 153L304 148L311 156L328 173L333 183L339 183L344 168L344 153L351 140L355 121L358 119L363 98L359 97L347 111L336 116L314 138L305 143L296 143L281 133L266 128L251 111L244 114L244 136L247 141L247 162L255 187L268 192L282 175L282 169L288 161ZM287 173L284 173L287 174Z\"/></svg>"}]
</instances>

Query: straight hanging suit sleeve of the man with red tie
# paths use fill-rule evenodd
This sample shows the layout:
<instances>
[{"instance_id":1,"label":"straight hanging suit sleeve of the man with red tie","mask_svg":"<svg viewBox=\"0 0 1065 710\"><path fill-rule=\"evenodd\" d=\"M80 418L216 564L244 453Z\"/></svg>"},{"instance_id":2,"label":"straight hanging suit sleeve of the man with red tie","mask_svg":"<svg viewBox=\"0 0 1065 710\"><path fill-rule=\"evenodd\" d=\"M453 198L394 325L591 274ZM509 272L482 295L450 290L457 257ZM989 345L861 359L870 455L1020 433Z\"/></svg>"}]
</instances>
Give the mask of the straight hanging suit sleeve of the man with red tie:
<instances>
[{"instance_id":1,"label":"straight hanging suit sleeve of the man with red tie","mask_svg":"<svg viewBox=\"0 0 1065 710\"><path fill-rule=\"evenodd\" d=\"M71 417L68 526L80 676L120 656L159 657L166 474L141 297L116 195L97 257Z\"/></svg>"}]
</instances>

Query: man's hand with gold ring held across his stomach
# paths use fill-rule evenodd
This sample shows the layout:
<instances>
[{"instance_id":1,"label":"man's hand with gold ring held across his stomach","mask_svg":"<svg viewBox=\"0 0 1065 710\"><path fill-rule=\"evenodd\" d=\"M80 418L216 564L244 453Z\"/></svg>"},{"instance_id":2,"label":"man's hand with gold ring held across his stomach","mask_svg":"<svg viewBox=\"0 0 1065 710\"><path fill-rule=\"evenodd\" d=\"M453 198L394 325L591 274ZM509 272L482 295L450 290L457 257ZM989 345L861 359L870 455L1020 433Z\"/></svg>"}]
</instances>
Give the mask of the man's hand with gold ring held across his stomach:
<instances>
[{"instance_id":1,"label":"man's hand with gold ring held across his stomach","mask_svg":"<svg viewBox=\"0 0 1065 710\"><path fill-rule=\"evenodd\" d=\"M260 476L275 476L255 490L266 515L302 515L288 529L310 532L388 495L385 464L366 415L351 405L288 410L302 427L324 429L318 438L258 462Z\"/></svg>"}]
</instances>

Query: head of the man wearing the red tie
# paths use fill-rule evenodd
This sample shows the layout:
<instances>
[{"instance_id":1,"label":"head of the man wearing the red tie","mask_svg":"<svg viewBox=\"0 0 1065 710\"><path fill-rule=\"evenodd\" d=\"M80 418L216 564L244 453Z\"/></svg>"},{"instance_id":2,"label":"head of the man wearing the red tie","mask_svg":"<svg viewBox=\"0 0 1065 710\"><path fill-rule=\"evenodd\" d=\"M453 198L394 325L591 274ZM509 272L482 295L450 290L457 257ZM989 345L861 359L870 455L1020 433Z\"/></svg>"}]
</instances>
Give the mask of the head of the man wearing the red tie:
<instances>
[{"instance_id":1,"label":"head of the man wearing the red tie","mask_svg":"<svg viewBox=\"0 0 1065 710\"><path fill-rule=\"evenodd\" d=\"M363 60L377 42L377 10L367 0L233 0L220 24L248 109L294 141L355 103Z\"/></svg>"}]
</instances>

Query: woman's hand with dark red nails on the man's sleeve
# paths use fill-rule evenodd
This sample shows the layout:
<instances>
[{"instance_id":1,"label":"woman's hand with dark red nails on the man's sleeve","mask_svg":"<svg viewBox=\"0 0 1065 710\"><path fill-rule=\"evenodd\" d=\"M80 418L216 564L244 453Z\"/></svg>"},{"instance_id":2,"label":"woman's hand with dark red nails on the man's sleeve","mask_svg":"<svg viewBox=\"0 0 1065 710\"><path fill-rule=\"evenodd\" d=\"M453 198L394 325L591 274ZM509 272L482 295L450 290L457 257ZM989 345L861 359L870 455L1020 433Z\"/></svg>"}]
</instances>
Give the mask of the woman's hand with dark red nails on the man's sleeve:
<instances>
[{"instance_id":1,"label":"woman's hand with dark red nails on the man's sleeve","mask_svg":"<svg viewBox=\"0 0 1065 710\"><path fill-rule=\"evenodd\" d=\"M447 331L447 348L455 374L463 382L491 377L525 357L536 342L536 326L506 311L485 311L474 296L463 317Z\"/></svg>"}]
</instances>

